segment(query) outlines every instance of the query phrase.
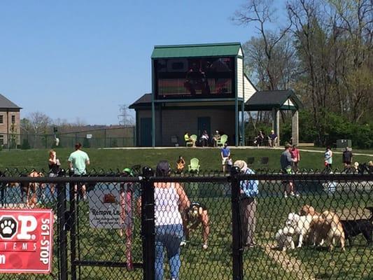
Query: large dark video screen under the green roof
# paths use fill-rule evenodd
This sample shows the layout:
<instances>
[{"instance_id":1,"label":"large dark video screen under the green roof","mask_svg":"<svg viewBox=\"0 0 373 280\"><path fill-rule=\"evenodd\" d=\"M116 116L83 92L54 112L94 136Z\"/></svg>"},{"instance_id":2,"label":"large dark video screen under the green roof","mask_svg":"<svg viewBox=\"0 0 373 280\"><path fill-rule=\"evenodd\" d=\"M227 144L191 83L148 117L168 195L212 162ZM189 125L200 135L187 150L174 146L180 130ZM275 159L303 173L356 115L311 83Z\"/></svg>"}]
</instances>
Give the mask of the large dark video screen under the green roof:
<instances>
[{"instance_id":1,"label":"large dark video screen under the green roof","mask_svg":"<svg viewBox=\"0 0 373 280\"><path fill-rule=\"evenodd\" d=\"M234 57L156 59L157 99L234 97Z\"/></svg>"}]
</instances>

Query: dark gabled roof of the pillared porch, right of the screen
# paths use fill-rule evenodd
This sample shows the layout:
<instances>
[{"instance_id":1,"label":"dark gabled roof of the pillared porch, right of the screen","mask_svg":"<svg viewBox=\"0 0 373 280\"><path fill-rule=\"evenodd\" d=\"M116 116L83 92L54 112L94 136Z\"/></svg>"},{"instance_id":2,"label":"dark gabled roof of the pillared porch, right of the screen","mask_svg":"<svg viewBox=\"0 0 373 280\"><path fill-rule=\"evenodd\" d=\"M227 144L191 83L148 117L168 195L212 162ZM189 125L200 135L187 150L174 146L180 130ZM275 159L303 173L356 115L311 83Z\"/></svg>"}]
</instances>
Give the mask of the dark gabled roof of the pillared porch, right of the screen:
<instances>
[{"instance_id":1,"label":"dark gabled roof of the pillared porch, right of the screen","mask_svg":"<svg viewBox=\"0 0 373 280\"><path fill-rule=\"evenodd\" d=\"M255 92L245 103L246 111L270 111L272 108L297 110L302 102L293 90L263 90Z\"/></svg>"}]
</instances>

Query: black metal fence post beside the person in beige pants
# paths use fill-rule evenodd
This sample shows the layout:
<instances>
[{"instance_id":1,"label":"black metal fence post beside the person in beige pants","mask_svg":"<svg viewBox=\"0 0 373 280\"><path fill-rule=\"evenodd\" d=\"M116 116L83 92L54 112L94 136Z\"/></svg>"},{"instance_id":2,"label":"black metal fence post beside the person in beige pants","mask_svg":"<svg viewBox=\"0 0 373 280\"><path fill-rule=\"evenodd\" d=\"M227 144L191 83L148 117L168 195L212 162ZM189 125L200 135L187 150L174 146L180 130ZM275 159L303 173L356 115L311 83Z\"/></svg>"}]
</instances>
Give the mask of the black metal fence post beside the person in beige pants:
<instances>
[{"instance_id":1,"label":"black metal fence post beside the person in beige pants","mask_svg":"<svg viewBox=\"0 0 373 280\"><path fill-rule=\"evenodd\" d=\"M239 174L238 167L232 167L232 260L233 260L233 280L244 279L242 234L241 234L241 217L239 214Z\"/></svg>"}]
</instances>

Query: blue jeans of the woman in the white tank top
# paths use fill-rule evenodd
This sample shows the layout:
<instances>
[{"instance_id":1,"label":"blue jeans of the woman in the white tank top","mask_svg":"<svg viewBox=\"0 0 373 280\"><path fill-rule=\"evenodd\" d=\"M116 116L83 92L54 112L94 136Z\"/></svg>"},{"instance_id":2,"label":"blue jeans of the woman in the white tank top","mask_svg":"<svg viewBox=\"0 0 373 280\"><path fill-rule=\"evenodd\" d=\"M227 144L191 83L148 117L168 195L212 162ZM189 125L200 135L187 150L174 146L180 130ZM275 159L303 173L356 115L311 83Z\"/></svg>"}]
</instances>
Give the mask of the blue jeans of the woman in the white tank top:
<instances>
[{"instance_id":1,"label":"blue jeans of the woman in the white tank top","mask_svg":"<svg viewBox=\"0 0 373 280\"><path fill-rule=\"evenodd\" d=\"M183 225L157 225L155 227L155 280L163 280L164 247L166 247L169 259L171 279L178 280L182 237Z\"/></svg>"}]
</instances>

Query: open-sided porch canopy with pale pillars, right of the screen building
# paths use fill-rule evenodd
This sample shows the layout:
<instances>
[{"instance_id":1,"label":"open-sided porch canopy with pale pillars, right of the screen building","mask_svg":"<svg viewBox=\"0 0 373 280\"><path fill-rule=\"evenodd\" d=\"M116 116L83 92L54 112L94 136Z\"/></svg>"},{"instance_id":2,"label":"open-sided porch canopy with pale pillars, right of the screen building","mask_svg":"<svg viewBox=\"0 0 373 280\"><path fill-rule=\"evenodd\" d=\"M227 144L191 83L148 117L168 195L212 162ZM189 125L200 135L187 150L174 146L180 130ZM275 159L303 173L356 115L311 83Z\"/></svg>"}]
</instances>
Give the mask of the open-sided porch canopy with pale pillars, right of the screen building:
<instances>
[{"instance_id":1,"label":"open-sided porch canopy with pale pillars, right of the screen building","mask_svg":"<svg viewBox=\"0 0 373 280\"><path fill-rule=\"evenodd\" d=\"M272 129L280 143L280 111L292 111L293 144L299 143L298 110L303 105L293 90L265 90L255 92L245 102L245 111L272 111Z\"/></svg>"}]
</instances>

